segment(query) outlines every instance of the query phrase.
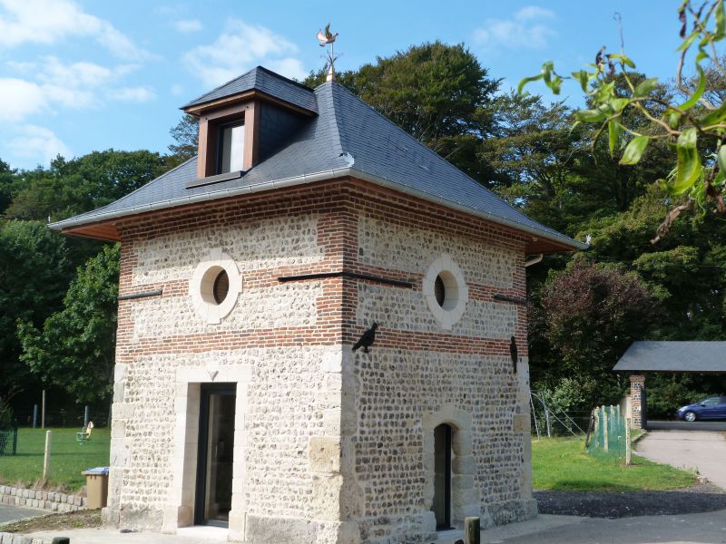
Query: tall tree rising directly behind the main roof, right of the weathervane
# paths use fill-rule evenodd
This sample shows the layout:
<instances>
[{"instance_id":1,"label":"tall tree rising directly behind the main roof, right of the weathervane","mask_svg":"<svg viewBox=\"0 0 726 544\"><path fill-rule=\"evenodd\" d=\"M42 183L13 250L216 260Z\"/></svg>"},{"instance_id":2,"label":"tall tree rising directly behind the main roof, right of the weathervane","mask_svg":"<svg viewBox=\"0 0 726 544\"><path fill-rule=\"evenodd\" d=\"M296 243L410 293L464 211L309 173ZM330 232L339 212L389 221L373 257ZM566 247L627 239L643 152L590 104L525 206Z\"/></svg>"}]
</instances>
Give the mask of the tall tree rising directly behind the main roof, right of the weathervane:
<instances>
[{"instance_id":1,"label":"tall tree rising directly behind the main roof, right of the weathervane","mask_svg":"<svg viewBox=\"0 0 726 544\"><path fill-rule=\"evenodd\" d=\"M302 83L317 86L326 72L311 73ZM413 45L336 77L418 141L489 184L491 170L477 152L494 128L499 80L463 44Z\"/></svg>"}]
</instances>

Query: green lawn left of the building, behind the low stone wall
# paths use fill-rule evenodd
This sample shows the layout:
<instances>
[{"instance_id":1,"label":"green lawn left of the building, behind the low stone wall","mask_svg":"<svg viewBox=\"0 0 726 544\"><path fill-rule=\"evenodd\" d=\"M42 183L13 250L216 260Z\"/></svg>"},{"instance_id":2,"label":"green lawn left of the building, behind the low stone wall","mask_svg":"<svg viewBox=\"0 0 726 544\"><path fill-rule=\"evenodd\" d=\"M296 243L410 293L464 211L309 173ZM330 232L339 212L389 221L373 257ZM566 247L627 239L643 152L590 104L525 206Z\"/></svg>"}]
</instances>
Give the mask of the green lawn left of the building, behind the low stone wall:
<instances>
[{"instance_id":1,"label":"green lawn left of the building, behind the low stone wall","mask_svg":"<svg viewBox=\"0 0 726 544\"><path fill-rule=\"evenodd\" d=\"M43 452L45 431L49 429L21 428L17 431L17 455L0 457L0 481L6 485L23 483L33 485L43 478ZM75 441L78 429L50 429L50 477L46 487L65 491L78 491L85 485L82 471L108 466L110 432L93 429L91 440L79 444Z\"/></svg>"}]
</instances>

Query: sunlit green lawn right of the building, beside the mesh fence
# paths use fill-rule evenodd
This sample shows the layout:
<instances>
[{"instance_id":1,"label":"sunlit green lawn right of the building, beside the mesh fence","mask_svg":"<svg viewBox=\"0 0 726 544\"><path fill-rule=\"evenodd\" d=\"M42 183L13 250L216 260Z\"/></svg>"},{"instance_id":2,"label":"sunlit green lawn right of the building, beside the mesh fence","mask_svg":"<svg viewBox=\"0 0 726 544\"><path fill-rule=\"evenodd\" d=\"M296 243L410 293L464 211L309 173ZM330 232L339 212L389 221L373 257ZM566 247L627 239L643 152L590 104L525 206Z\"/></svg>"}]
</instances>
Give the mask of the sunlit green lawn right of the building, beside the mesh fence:
<instances>
[{"instance_id":1,"label":"sunlit green lawn right of the building, beside the mesh fence","mask_svg":"<svg viewBox=\"0 0 726 544\"><path fill-rule=\"evenodd\" d=\"M633 464L595 458L584 452L584 440L544 438L532 441L535 490L659 491L689 487L696 476L633 455Z\"/></svg>"}]
</instances>

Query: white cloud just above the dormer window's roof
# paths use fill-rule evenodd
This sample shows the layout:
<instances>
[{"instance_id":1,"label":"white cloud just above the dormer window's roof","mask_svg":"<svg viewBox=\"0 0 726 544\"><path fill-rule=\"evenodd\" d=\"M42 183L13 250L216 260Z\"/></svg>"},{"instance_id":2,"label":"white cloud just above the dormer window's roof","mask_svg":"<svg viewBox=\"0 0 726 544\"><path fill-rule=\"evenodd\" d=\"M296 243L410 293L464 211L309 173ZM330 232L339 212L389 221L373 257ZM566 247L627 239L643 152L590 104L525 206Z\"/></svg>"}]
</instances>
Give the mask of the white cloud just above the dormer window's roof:
<instances>
[{"instance_id":1,"label":"white cloud just above the dormer window's roof","mask_svg":"<svg viewBox=\"0 0 726 544\"><path fill-rule=\"evenodd\" d=\"M297 45L269 28L231 19L213 44L200 45L184 54L184 63L209 87L228 82L257 64L302 79L307 73L293 56L295 53Z\"/></svg>"}]
</instances>

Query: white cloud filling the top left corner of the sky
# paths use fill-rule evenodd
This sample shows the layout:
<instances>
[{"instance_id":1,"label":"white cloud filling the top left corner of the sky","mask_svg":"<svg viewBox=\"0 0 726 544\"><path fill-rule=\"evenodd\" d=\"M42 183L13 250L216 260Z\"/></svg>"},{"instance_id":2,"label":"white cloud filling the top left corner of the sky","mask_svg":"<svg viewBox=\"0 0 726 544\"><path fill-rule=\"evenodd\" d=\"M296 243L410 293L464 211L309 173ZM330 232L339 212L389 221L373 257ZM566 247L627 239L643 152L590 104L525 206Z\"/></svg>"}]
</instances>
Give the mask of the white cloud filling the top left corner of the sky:
<instances>
[{"instance_id":1,"label":"white cloud filling the top left corner of the sky","mask_svg":"<svg viewBox=\"0 0 726 544\"><path fill-rule=\"evenodd\" d=\"M123 59L152 56L113 24L84 13L71 0L0 0L0 49L26 43L55 44L70 36L92 37Z\"/></svg>"}]
</instances>

